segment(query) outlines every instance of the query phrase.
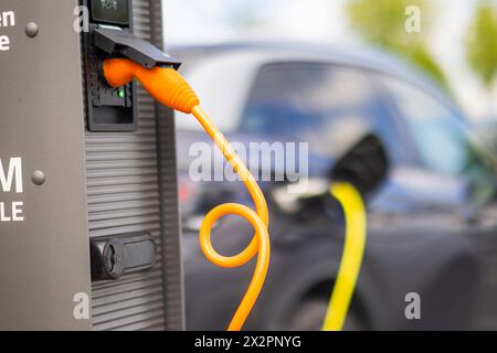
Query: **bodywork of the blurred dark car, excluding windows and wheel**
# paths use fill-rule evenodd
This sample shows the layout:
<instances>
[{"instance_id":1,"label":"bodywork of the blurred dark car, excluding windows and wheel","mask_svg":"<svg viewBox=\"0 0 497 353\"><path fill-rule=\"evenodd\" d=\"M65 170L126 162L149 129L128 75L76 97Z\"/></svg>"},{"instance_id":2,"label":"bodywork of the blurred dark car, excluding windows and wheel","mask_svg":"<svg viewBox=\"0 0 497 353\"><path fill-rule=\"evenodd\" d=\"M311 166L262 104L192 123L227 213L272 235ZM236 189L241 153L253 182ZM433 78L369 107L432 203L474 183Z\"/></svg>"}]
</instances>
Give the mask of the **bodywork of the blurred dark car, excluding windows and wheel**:
<instances>
[{"instance_id":1,"label":"bodywork of the blurred dark car, excluding windows and wheel","mask_svg":"<svg viewBox=\"0 0 497 353\"><path fill-rule=\"evenodd\" d=\"M285 136L241 133L232 124L243 116L257 73L274 63L325 63L371 73L371 84L378 85L376 94L382 101L380 113L392 121L402 119L392 97L377 83L376 74L412 83L463 117L436 85L380 53L355 54L287 44L194 46L173 53L187 62L184 74L192 78L199 95L207 97L205 109L226 130L229 140L245 146L253 141L285 141ZM178 119L189 117L179 114ZM405 133L402 121L399 126L399 133ZM198 158L190 147L195 141L210 147L212 142L190 122L179 122L178 127L180 179L188 179L189 165ZM493 308L497 306L488 295L493 286L497 290L497 281L491 281L496 272L491 268L497 268L495 224L487 221L478 228L472 223L472 210L480 208L469 201L470 185L464 178L429 171L420 164L408 138L398 148L405 150L402 159L392 163L384 182L367 197L368 243L353 310L360 311L364 327L371 330L496 328L497 309ZM309 160L311 178L324 178L336 162L313 152ZM199 215L224 202L252 204L239 183L202 182L195 188L199 192L204 189L210 190L210 199ZM292 213L275 197L275 191L284 190L285 183L263 182L262 189L271 210L273 255L266 285L246 329L289 329L289 315L305 298L329 298L342 248L343 217L330 197L310 200L306 207ZM491 202L486 207L488 214L497 210ZM477 218L483 223L485 217ZM221 254L233 255L248 244L252 232L243 220L228 217L213 232L213 244ZM183 245L187 325L222 330L248 285L253 263L230 270L209 264L200 252L195 229L186 229ZM485 260L479 258L483 250L489 254ZM410 292L421 293L422 320L405 317L405 296Z\"/></svg>"}]
</instances>

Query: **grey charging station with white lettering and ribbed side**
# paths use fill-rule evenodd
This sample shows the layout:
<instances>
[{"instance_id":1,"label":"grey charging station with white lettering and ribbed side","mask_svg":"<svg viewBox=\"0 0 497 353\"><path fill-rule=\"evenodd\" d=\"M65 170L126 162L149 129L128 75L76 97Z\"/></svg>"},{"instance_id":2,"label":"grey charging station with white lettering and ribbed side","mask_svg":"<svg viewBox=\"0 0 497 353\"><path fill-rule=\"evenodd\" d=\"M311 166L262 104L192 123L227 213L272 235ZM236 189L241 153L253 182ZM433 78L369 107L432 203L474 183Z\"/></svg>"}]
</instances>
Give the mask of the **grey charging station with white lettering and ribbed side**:
<instances>
[{"instance_id":1,"label":"grey charging station with white lettering and ribbed side","mask_svg":"<svg viewBox=\"0 0 497 353\"><path fill-rule=\"evenodd\" d=\"M0 330L181 330L172 116L135 83L104 87L93 42L120 28L160 47L160 0L3 0L0 17Z\"/></svg>"}]
</instances>

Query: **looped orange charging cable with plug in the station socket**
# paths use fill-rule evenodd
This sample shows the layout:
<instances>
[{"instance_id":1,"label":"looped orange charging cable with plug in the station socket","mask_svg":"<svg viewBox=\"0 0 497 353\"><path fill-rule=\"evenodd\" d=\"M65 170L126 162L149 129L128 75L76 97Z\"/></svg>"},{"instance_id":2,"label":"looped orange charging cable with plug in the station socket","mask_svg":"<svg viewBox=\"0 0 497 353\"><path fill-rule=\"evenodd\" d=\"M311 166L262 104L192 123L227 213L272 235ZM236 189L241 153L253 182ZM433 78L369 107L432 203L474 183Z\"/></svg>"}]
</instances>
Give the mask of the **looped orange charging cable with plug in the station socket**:
<instances>
[{"instance_id":1,"label":"looped orange charging cable with plug in the station socket","mask_svg":"<svg viewBox=\"0 0 497 353\"><path fill-rule=\"evenodd\" d=\"M233 268L248 263L256 254L257 263L248 288L239 309L228 327L229 331L240 331L264 285L269 265L269 235L267 233L268 211L264 194L245 163L240 159L218 127L200 107L200 100L184 78L171 67L144 68L127 58L109 58L104 62L104 76L112 87L120 87L138 79L144 88L160 104L172 109L192 114L215 145L221 149L226 160L248 190L254 201L256 212L237 204L225 203L211 210L200 227L200 246L205 257L213 264ZM212 246L211 229L213 224L224 215L234 214L246 218L255 229L255 235L248 246L234 256L222 256Z\"/></svg>"}]
</instances>

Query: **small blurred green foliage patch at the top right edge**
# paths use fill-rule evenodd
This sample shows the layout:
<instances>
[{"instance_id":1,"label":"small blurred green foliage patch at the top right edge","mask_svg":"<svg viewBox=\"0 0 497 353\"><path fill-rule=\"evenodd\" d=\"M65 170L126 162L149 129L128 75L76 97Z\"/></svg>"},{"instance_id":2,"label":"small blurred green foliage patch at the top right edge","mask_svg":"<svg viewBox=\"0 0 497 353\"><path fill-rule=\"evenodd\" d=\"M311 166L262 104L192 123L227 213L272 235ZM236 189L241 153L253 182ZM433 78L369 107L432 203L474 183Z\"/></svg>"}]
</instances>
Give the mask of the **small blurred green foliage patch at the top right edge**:
<instances>
[{"instance_id":1,"label":"small blurred green foliage patch at the top right edge","mask_svg":"<svg viewBox=\"0 0 497 353\"><path fill-rule=\"evenodd\" d=\"M466 40L467 60L482 82L490 87L497 76L497 6L482 2Z\"/></svg>"}]
</instances>

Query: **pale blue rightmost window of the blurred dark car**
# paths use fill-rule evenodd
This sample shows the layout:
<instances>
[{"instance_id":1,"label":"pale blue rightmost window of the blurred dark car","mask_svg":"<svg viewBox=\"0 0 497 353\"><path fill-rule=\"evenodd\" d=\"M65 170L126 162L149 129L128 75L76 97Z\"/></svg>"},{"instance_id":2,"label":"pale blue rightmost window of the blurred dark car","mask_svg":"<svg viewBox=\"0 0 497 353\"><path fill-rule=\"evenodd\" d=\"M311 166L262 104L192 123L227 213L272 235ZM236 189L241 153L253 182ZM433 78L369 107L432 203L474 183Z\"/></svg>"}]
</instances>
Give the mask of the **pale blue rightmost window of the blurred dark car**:
<instances>
[{"instance_id":1,"label":"pale blue rightmost window of the blurred dark car","mask_svg":"<svg viewBox=\"0 0 497 353\"><path fill-rule=\"evenodd\" d=\"M398 114L406 124L421 163L433 172L467 176L485 199L494 192L495 167L467 122L435 97L406 82L384 77Z\"/></svg>"}]
</instances>

